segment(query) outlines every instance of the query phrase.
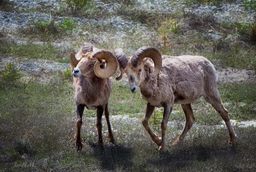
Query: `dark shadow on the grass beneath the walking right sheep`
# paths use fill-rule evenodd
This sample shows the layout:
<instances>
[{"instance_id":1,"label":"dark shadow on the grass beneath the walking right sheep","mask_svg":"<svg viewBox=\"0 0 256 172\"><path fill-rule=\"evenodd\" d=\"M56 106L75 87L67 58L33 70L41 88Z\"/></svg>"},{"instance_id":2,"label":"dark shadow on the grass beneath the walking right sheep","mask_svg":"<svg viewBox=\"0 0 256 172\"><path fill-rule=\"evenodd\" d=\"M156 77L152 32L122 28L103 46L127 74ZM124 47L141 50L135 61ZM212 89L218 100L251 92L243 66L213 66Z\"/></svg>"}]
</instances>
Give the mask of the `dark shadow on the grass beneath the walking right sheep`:
<instances>
[{"instance_id":1,"label":"dark shadow on the grass beneath the walking right sheep","mask_svg":"<svg viewBox=\"0 0 256 172\"><path fill-rule=\"evenodd\" d=\"M172 152L159 153L158 159L147 159L147 164L164 167L168 170L191 166L196 161L222 159L227 162L235 162L237 157L237 146L216 148L211 146L190 146L188 148L176 148Z\"/></svg>"}]
</instances>

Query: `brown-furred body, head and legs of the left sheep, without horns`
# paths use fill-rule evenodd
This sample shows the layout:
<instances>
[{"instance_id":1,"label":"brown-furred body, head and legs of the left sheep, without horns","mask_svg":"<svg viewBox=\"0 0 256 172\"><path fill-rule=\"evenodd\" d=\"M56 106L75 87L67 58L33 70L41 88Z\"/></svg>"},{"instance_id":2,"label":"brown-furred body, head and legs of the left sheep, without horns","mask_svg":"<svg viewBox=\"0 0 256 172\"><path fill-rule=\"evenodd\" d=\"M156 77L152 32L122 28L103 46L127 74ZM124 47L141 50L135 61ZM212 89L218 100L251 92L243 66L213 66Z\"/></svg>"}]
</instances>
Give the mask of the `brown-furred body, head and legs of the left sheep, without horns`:
<instances>
[{"instance_id":1,"label":"brown-furred body, head and legs of the left sheep, without horns","mask_svg":"<svg viewBox=\"0 0 256 172\"><path fill-rule=\"evenodd\" d=\"M92 52L86 52L86 54L83 54L82 51L79 51L77 54L79 54L81 60L77 64L76 68L79 69L81 74L79 77L73 77L74 98L77 106L77 130L75 134L76 147L77 150L81 150L83 147L80 134L83 109L86 107L87 109L97 109L97 130L99 135L98 146L99 148L103 148L101 118L104 111L108 125L109 141L114 143L114 136L111 130L108 112L111 80L102 79L95 75L93 68L97 59L92 58ZM104 68L104 66L106 66L106 61L102 60L102 67ZM76 68L74 68L74 70Z\"/></svg>"}]
</instances>

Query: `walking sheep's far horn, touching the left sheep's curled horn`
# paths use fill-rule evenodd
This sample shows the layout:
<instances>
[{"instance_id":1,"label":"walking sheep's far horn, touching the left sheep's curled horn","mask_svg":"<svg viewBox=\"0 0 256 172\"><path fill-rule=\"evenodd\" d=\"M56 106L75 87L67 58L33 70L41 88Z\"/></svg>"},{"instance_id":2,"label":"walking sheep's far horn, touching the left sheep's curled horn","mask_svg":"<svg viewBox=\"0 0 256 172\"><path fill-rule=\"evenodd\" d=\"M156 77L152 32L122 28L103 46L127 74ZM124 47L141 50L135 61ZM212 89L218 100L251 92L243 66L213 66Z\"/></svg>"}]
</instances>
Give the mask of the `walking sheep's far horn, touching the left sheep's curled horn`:
<instances>
[{"instance_id":1,"label":"walking sheep's far horn, touching the left sheep's curled horn","mask_svg":"<svg viewBox=\"0 0 256 172\"><path fill-rule=\"evenodd\" d=\"M119 74L118 77L116 77L116 80L119 81L123 77L124 68L126 68L128 66L128 58L124 54L123 49L116 49L115 50L115 55L116 55L118 65L119 65L119 70L120 70L120 74Z\"/></svg>"}]
</instances>

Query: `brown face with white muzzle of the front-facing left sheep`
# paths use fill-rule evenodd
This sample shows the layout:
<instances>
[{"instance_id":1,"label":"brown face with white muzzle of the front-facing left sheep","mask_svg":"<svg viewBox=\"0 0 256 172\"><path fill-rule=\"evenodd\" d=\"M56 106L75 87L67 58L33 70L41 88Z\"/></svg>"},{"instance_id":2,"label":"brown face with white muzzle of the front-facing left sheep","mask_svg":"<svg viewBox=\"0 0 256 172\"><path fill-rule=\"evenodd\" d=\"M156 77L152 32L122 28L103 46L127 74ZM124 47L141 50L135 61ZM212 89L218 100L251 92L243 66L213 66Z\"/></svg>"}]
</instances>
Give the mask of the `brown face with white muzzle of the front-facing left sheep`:
<instances>
[{"instance_id":1,"label":"brown face with white muzzle of the front-facing left sheep","mask_svg":"<svg viewBox=\"0 0 256 172\"><path fill-rule=\"evenodd\" d=\"M90 57L83 57L79 63L77 64L76 68L74 68L72 74L74 77L88 77L92 78L95 76L93 67L96 63L96 59Z\"/></svg>"}]
</instances>

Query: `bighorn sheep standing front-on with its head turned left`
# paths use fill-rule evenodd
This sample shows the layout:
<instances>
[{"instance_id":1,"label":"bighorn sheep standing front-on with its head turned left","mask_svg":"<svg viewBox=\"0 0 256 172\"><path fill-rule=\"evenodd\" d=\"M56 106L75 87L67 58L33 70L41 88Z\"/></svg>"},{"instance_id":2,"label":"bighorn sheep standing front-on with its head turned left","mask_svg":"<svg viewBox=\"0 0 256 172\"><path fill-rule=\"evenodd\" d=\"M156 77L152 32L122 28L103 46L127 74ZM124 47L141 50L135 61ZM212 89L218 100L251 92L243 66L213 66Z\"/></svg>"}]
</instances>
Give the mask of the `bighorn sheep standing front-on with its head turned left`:
<instances>
[{"instance_id":1,"label":"bighorn sheep standing front-on with its head turned left","mask_svg":"<svg viewBox=\"0 0 256 172\"><path fill-rule=\"evenodd\" d=\"M99 148L103 148L101 118L105 113L108 125L108 139L114 142L113 132L109 122L108 98L111 92L109 77L115 74L118 63L115 55L106 50L93 48L92 44L84 43L75 55L70 54L73 88L77 107L76 148L81 150L81 126L84 106L87 109L97 109L97 130L99 134Z\"/></svg>"}]
</instances>

